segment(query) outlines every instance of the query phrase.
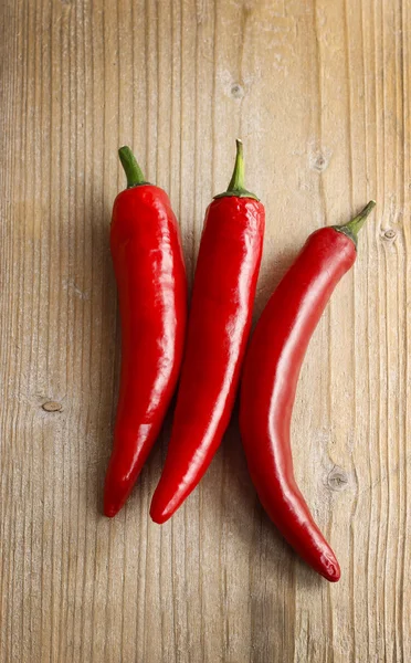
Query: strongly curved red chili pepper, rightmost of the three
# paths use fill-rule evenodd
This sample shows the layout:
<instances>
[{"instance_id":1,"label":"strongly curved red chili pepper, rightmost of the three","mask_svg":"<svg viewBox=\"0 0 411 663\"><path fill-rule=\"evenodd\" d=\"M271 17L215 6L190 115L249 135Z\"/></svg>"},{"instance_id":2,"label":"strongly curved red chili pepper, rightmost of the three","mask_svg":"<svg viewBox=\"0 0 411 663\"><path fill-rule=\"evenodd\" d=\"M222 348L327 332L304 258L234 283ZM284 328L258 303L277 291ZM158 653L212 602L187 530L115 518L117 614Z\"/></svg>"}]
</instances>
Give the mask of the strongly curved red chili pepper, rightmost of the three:
<instances>
[{"instance_id":1,"label":"strongly curved red chili pepper, rightmost of the three","mask_svg":"<svg viewBox=\"0 0 411 663\"><path fill-rule=\"evenodd\" d=\"M314 232L268 301L244 361L240 430L260 501L301 557L335 582L338 561L315 524L293 470L289 424L312 334L341 276L356 260L357 233L375 207Z\"/></svg>"}]
</instances>

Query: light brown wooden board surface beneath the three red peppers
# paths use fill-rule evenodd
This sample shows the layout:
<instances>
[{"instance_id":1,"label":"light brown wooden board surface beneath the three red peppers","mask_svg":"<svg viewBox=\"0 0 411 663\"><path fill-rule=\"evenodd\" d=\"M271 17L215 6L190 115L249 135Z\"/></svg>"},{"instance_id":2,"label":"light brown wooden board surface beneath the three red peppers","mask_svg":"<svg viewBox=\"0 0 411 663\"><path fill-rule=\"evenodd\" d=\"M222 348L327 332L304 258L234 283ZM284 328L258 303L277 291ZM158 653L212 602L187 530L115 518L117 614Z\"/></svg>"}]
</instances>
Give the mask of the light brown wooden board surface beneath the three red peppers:
<instances>
[{"instance_id":1,"label":"light brown wooden board surface beneath the three red peppers","mask_svg":"<svg viewBox=\"0 0 411 663\"><path fill-rule=\"evenodd\" d=\"M0 18L1 663L410 662L411 0L2 0ZM255 317L312 231L378 202L293 418L334 586L264 515L236 415L170 523L148 515L170 421L102 515L117 148L169 192L191 278L238 136L267 213Z\"/></svg>"}]
</instances>

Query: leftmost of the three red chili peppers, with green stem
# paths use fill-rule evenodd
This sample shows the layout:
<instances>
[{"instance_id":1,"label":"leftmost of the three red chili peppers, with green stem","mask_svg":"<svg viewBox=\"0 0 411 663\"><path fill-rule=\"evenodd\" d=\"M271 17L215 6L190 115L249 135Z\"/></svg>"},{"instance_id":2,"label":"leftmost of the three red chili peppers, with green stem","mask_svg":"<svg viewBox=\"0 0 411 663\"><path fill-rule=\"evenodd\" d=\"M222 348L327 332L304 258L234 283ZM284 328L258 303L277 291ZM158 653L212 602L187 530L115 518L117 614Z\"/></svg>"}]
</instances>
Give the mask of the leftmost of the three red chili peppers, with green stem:
<instances>
[{"instance_id":1,"label":"leftmost of the three red chili peppers, with green stem","mask_svg":"<svg viewBox=\"0 0 411 663\"><path fill-rule=\"evenodd\" d=\"M110 248L122 319L122 375L104 513L115 516L160 431L181 362L187 283L167 193L119 149L127 189L114 202Z\"/></svg>"}]
</instances>

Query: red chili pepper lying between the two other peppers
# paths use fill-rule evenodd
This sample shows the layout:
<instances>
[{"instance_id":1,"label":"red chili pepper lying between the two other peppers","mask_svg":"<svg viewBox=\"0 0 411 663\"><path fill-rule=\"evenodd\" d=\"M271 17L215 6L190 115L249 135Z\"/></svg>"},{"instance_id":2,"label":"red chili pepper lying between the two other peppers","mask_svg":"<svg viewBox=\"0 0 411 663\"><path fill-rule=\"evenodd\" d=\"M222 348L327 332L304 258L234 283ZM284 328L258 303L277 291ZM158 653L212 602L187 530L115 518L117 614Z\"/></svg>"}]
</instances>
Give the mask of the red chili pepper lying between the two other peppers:
<instances>
[{"instance_id":1,"label":"red chili pepper lying between the two other peppers","mask_svg":"<svg viewBox=\"0 0 411 663\"><path fill-rule=\"evenodd\" d=\"M171 440L150 515L165 523L194 490L229 424L250 332L264 207L244 189L242 143L233 177L205 213Z\"/></svg>"}]
</instances>

